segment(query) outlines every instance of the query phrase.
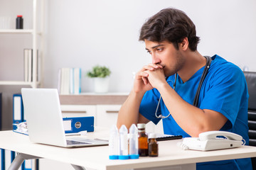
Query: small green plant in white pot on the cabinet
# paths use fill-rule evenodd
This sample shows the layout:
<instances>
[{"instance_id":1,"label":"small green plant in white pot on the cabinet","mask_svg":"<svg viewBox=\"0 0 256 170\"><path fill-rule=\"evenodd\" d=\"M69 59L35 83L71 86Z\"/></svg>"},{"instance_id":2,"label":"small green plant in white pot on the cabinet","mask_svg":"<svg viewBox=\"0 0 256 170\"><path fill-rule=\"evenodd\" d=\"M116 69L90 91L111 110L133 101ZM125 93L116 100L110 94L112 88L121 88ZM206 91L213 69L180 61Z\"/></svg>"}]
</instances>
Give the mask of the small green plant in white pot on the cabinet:
<instances>
[{"instance_id":1,"label":"small green plant in white pot on the cabinet","mask_svg":"<svg viewBox=\"0 0 256 170\"><path fill-rule=\"evenodd\" d=\"M87 72L87 77L94 81L95 93L106 93L110 81L110 69L105 66L96 65L92 70Z\"/></svg>"}]
</instances>

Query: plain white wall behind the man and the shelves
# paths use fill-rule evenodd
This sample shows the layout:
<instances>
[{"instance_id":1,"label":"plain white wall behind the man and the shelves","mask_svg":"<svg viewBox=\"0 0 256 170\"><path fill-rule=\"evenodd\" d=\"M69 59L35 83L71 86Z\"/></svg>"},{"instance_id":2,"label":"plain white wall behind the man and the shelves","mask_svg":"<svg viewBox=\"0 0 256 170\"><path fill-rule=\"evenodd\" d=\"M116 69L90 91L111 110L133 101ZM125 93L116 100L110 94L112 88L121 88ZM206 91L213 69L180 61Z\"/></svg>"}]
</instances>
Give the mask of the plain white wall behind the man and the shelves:
<instances>
[{"instance_id":1,"label":"plain white wall behind the man and the shelves","mask_svg":"<svg viewBox=\"0 0 256 170\"><path fill-rule=\"evenodd\" d=\"M24 15L31 28L31 0L0 0L0 16ZM256 71L256 1L254 0L46 0L46 88L57 88L58 69L82 68L82 92L92 91L85 72L95 64L112 70L110 91L132 88L132 72L151 62L138 42L142 24L162 8L185 11L196 24L202 55L218 54ZM0 35L0 80L23 79L23 48L29 35ZM11 55L10 55L11 53ZM11 127L11 95L21 86L0 86L4 95L4 127Z\"/></svg>"}]
</instances>

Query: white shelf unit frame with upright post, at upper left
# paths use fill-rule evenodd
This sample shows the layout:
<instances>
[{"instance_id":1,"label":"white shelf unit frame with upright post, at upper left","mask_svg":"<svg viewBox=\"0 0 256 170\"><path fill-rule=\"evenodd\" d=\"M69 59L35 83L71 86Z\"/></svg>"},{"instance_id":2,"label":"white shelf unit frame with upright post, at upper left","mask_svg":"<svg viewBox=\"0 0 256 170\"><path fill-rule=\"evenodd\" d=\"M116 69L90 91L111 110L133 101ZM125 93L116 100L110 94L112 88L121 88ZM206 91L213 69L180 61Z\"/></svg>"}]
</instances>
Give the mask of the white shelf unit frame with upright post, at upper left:
<instances>
[{"instance_id":1,"label":"white shelf unit frame with upright post, at upper left","mask_svg":"<svg viewBox=\"0 0 256 170\"><path fill-rule=\"evenodd\" d=\"M31 34L32 35L32 49L33 49L33 74L32 81L0 81L0 85L21 85L21 86L31 86L32 88L36 88L43 83L43 72L42 70L38 70L37 64L37 55L41 57L41 69L43 68L43 11L44 11L44 0L41 0L41 31L38 32L38 0L33 0L33 28L32 29L0 29L0 34ZM41 36L38 38L38 35ZM41 47L38 50L38 40L41 41ZM37 50L40 51L37 54ZM38 71L38 72L37 72ZM37 81L38 74L41 74L40 81Z\"/></svg>"}]
</instances>

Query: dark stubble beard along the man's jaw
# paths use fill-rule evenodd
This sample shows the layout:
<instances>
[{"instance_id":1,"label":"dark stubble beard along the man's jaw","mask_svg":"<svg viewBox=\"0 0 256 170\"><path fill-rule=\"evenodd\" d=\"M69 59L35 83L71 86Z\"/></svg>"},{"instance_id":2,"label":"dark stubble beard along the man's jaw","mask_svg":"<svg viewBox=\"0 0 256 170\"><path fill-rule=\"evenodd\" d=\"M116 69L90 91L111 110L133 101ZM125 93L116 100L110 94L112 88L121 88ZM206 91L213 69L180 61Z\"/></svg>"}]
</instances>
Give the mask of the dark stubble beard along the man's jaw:
<instances>
[{"instance_id":1,"label":"dark stubble beard along the man's jaw","mask_svg":"<svg viewBox=\"0 0 256 170\"><path fill-rule=\"evenodd\" d=\"M185 57L183 57L182 55L180 55L178 52L176 54L176 64L167 69L166 67L164 67L164 75L166 77L169 77L169 76L172 76L174 74L176 74L176 72L178 72L182 67L183 65L185 64Z\"/></svg>"}]
</instances>

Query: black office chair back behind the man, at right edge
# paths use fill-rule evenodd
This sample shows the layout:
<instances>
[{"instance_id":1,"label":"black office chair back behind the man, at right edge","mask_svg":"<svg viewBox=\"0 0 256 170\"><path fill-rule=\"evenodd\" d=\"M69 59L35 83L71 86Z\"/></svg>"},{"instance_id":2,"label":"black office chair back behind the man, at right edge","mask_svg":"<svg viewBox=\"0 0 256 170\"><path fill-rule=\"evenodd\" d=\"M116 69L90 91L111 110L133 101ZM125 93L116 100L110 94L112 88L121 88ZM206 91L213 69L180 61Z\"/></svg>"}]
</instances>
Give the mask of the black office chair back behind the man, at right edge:
<instances>
[{"instance_id":1,"label":"black office chair back behind the man, at right edge","mask_svg":"<svg viewBox=\"0 0 256 170\"><path fill-rule=\"evenodd\" d=\"M249 145L256 147L256 72L244 72L249 93L248 127ZM252 158L252 169L256 169L256 157Z\"/></svg>"}]
</instances>

